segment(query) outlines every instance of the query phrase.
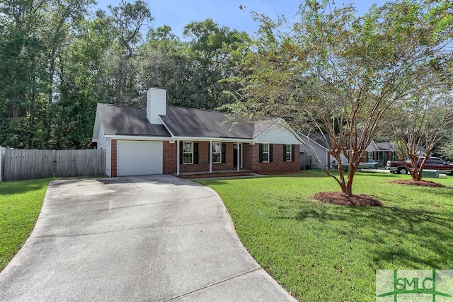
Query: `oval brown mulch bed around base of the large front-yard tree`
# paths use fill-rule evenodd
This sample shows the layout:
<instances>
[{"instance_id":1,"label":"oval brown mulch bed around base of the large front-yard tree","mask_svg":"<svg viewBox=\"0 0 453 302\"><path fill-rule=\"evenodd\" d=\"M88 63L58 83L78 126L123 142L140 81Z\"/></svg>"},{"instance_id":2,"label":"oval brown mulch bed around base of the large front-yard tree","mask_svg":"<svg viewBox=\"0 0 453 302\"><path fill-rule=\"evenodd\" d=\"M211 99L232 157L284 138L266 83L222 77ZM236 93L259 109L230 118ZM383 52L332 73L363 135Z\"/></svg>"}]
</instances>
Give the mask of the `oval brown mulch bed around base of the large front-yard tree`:
<instances>
[{"instance_id":1,"label":"oval brown mulch bed around base of the large front-yard tree","mask_svg":"<svg viewBox=\"0 0 453 302\"><path fill-rule=\"evenodd\" d=\"M382 206L382 202L365 194L348 196L348 194L343 192L320 192L314 195L314 199L329 204L340 204L352 207Z\"/></svg>"}]
</instances>

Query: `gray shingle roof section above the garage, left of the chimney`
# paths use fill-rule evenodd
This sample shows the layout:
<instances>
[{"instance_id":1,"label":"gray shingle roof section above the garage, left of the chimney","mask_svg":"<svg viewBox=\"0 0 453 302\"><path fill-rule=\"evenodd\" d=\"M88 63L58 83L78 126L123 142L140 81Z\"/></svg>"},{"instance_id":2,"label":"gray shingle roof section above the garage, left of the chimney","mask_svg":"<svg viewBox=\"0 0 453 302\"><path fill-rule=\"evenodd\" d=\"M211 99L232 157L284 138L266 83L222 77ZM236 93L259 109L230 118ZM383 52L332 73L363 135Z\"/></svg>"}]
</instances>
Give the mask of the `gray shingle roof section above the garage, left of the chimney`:
<instances>
[{"instance_id":1,"label":"gray shingle roof section above the garage, left of the chimney","mask_svg":"<svg viewBox=\"0 0 453 302\"><path fill-rule=\"evenodd\" d=\"M98 104L104 134L171 137L163 124L150 124L147 111L139 108Z\"/></svg>"}]
</instances>

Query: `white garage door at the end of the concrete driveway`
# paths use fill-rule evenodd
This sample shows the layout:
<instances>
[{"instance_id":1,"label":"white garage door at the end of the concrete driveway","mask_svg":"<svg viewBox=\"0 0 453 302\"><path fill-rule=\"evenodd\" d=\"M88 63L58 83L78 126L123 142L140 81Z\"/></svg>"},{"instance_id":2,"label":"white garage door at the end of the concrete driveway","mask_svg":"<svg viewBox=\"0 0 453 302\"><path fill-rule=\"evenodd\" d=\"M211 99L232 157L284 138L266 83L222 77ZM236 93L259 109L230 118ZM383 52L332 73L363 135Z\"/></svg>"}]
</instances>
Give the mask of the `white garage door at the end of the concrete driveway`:
<instances>
[{"instance_id":1,"label":"white garage door at the end of the concrete driveway","mask_svg":"<svg viewBox=\"0 0 453 302\"><path fill-rule=\"evenodd\" d=\"M117 175L162 174L161 141L118 141Z\"/></svg>"}]
</instances>

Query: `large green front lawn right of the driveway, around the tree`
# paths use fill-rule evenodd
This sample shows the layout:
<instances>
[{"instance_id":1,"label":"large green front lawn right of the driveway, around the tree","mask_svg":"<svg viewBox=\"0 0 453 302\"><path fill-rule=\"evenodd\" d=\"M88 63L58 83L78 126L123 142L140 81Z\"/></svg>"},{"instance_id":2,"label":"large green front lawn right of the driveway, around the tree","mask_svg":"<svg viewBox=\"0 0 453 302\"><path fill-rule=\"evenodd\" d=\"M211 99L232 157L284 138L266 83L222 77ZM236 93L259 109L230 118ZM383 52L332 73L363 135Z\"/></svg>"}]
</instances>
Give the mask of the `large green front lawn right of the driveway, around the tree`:
<instances>
[{"instance_id":1,"label":"large green front lawn right of the driveway, around the tree","mask_svg":"<svg viewBox=\"0 0 453 302\"><path fill-rule=\"evenodd\" d=\"M384 202L366 208L314 201L339 190L319 171L199 182L219 193L243 245L299 301L376 301L377 269L453 269L453 178L434 180L447 188L389 183L409 178L357 173L353 192Z\"/></svg>"}]
</instances>

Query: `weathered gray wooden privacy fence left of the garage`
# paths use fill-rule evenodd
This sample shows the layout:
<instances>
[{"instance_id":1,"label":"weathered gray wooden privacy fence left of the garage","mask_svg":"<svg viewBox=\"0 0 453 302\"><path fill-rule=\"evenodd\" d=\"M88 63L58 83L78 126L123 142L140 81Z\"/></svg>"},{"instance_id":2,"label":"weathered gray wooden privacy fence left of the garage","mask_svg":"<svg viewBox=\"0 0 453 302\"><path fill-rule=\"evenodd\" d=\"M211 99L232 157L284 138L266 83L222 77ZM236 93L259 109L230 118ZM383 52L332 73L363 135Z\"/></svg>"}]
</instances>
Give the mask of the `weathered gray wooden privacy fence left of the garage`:
<instances>
[{"instance_id":1,"label":"weathered gray wooden privacy fence left of the garage","mask_svg":"<svg viewBox=\"0 0 453 302\"><path fill-rule=\"evenodd\" d=\"M105 175L105 150L6 149L2 180Z\"/></svg>"}]
</instances>

